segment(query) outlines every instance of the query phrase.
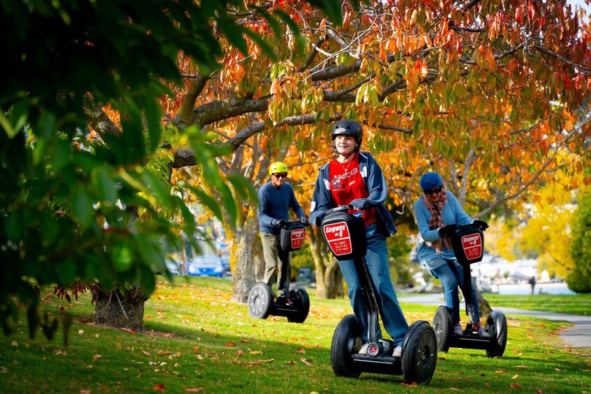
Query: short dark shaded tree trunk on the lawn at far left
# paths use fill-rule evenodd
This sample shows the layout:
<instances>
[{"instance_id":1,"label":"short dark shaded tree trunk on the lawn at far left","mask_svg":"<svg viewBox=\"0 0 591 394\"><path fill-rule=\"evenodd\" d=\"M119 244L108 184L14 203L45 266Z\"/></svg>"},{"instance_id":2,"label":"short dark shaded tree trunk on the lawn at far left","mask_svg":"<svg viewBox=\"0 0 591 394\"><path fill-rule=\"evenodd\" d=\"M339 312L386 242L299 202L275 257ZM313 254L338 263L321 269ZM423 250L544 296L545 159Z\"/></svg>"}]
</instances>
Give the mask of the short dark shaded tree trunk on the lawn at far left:
<instances>
[{"instance_id":1,"label":"short dark shaded tree trunk on the lawn at far left","mask_svg":"<svg viewBox=\"0 0 591 394\"><path fill-rule=\"evenodd\" d=\"M106 291L100 285L91 287L97 324L115 328L144 329L144 303L149 298L139 287Z\"/></svg>"}]
</instances>

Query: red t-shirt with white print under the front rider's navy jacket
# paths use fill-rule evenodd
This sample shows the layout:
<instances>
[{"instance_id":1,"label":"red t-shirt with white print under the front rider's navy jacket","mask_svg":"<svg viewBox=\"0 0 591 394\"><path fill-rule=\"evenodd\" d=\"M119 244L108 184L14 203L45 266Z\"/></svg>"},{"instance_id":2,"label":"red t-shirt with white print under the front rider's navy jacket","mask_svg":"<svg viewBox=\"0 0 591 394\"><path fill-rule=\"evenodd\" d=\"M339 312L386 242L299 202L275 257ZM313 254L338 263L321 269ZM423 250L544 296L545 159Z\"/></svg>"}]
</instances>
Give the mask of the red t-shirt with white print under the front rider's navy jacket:
<instances>
[{"instance_id":1,"label":"red t-shirt with white print under the front rider's navy jacket","mask_svg":"<svg viewBox=\"0 0 591 394\"><path fill-rule=\"evenodd\" d=\"M354 199L369 197L369 191L359 172L358 155L359 153L355 153L353 160L344 164L336 159L330 162L331 194L336 205L349 205ZM361 212L366 226L375 222L375 208Z\"/></svg>"}]
</instances>

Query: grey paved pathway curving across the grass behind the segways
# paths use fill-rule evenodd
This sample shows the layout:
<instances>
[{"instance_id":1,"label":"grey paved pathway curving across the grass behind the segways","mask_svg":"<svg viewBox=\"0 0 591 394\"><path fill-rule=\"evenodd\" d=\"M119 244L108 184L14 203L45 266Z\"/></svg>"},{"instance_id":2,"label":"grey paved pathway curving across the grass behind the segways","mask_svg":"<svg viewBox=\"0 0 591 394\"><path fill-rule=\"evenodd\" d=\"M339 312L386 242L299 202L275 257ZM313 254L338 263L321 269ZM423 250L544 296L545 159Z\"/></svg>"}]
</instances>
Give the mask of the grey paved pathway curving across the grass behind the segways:
<instances>
[{"instance_id":1,"label":"grey paved pathway curving across the grass behind the segways","mask_svg":"<svg viewBox=\"0 0 591 394\"><path fill-rule=\"evenodd\" d=\"M398 298L401 303L422 305L445 305L443 294L417 294ZM548 320L564 320L574 324L558 334L558 338L571 348L591 349L591 316L567 315L566 313L541 312L516 308L499 308L505 315L528 315Z\"/></svg>"}]
</instances>

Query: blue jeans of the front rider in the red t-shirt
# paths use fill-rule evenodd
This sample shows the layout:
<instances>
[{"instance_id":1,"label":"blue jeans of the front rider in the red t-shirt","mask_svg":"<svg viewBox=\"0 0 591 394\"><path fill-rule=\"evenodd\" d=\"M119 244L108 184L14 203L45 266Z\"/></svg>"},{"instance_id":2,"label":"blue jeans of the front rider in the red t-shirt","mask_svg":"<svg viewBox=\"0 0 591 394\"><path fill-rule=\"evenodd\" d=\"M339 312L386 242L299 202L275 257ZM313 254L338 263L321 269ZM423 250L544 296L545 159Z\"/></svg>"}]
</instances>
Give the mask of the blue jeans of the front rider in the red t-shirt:
<instances>
[{"instance_id":1,"label":"blue jeans of the front rider in the red t-shirt","mask_svg":"<svg viewBox=\"0 0 591 394\"><path fill-rule=\"evenodd\" d=\"M377 299L377 308L382 317L382 323L394 340L396 346L402 345L404 335L408 331L408 324L398 304L398 298L394 292L394 286L390 278L388 268L388 248L386 247L386 237L377 229L377 224L366 227L367 252L366 264L371 280L375 285L375 298ZM364 296L357 277L357 271L353 260L343 260L339 262L343 277L347 282L349 289L348 296L353 307L353 313L357 322L361 325L361 338L364 342L367 340L368 322L367 308L364 302ZM378 327L378 338L382 333Z\"/></svg>"}]
</instances>

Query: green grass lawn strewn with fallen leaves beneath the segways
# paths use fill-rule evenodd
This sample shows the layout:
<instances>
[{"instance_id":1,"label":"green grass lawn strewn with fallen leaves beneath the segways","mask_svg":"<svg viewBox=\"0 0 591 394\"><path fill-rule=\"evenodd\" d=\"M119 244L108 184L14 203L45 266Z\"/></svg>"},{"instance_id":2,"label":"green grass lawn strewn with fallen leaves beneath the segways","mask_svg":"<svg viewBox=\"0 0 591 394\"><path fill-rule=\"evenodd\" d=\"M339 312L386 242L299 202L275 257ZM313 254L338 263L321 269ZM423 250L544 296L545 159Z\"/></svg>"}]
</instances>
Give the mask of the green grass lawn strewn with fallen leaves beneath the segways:
<instances>
[{"instance_id":1,"label":"green grass lawn strewn with fallen leaves beneath the segways","mask_svg":"<svg viewBox=\"0 0 591 394\"><path fill-rule=\"evenodd\" d=\"M61 333L53 341L42 333L29 340L20 322L17 333L0 337L0 391L591 393L591 351L569 349L558 338L569 324L525 317L509 317L502 358L469 349L438 354L428 386L407 385L403 377L390 375L337 378L330 343L350 305L347 299L317 298L313 289L309 294L308 319L292 324L285 317L250 318L246 304L230 301L230 280L162 280L146 303L145 331L130 333L92 324L87 297L69 305L47 291L44 308L57 315L63 306L78 318L70 328L70 345L63 346ZM402 305L409 323L433 319L432 306Z\"/></svg>"}]
</instances>

